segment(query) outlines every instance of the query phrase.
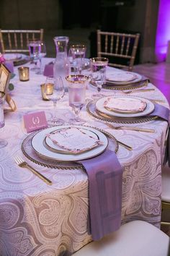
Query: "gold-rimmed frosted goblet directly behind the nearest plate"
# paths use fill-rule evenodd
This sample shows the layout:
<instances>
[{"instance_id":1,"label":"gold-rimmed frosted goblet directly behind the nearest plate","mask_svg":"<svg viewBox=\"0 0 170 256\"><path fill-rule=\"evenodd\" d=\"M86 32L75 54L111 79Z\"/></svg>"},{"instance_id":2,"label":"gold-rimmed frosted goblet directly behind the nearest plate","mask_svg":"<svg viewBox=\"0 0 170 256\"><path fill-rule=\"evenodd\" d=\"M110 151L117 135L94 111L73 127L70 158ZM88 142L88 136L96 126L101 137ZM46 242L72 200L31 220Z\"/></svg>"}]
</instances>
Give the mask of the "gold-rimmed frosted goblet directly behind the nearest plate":
<instances>
[{"instance_id":1,"label":"gold-rimmed frosted goblet directly behind the nearest plate","mask_svg":"<svg viewBox=\"0 0 170 256\"><path fill-rule=\"evenodd\" d=\"M66 77L68 81L69 106L73 108L75 118L69 119L69 124L84 124L86 120L80 118L80 111L86 100L86 82L89 77L83 74L73 74Z\"/></svg>"}]
</instances>

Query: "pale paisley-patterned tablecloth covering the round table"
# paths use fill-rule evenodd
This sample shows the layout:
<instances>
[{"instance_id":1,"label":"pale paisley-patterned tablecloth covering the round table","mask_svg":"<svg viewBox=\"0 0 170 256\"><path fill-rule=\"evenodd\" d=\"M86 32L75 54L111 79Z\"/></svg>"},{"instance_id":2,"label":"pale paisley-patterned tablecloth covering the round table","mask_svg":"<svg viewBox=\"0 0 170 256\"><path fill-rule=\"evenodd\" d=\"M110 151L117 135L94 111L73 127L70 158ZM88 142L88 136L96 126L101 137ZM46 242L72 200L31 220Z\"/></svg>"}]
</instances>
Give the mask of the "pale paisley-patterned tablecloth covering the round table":
<instances>
[{"instance_id":1,"label":"pale paisley-patterned tablecloth covering the round table","mask_svg":"<svg viewBox=\"0 0 170 256\"><path fill-rule=\"evenodd\" d=\"M50 59L44 59L47 63ZM31 64L25 64L31 67ZM115 69L116 70L116 69ZM14 90L10 93L17 111L10 111L5 104L5 127L1 138L8 145L0 150L0 255L71 255L91 242L87 233L88 179L83 169L47 168L33 163L22 153L22 142L28 136L23 124L23 115L45 111L47 117L53 112L53 103L42 101L40 85L45 76L30 71L30 80L12 79ZM151 92L133 95L149 99L161 99L169 108L166 98L151 83ZM88 85L86 97L96 88ZM102 90L105 95L123 94L121 91ZM58 117L66 122L73 117L68 106L68 93L58 102ZM155 133L136 132L126 129L111 129L102 121L94 119L81 110L86 125L99 127L130 145L129 151L119 147L117 158L123 166L122 176L122 224L144 220L160 227L161 221L161 163L164 159L164 142L167 122L161 119L140 124L140 127L155 129ZM14 155L22 157L48 177L49 186L26 168L14 163Z\"/></svg>"}]
</instances>

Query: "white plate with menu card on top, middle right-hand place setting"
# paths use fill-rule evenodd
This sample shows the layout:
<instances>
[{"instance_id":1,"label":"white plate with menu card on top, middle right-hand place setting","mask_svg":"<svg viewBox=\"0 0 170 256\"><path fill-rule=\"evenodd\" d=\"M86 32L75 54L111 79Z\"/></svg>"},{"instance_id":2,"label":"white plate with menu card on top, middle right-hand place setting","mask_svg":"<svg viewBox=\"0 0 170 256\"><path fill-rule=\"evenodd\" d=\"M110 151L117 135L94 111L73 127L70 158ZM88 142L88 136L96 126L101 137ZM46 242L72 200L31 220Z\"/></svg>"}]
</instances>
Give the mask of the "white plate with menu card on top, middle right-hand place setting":
<instances>
[{"instance_id":1,"label":"white plate with menu card on top, middle right-hand place setting","mask_svg":"<svg viewBox=\"0 0 170 256\"><path fill-rule=\"evenodd\" d=\"M116 109L116 106L115 108L112 108L111 106L109 108L109 104L107 106L107 103L109 103L109 101L112 101L110 102L111 106L112 106L112 103L114 103L114 101L115 102L117 101L117 103L120 102L120 105L123 103L123 105L121 106L120 110ZM129 104L129 110L128 110L128 104ZM138 104L140 105L138 106ZM129 117L146 116L147 114L150 114L154 110L154 104L151 101L147 99L143 99L141 97L128 96L128 95L125 95L125 96L115 95L115 96L100 98L96 102L96 108L97 108L97 111L99 111L102 114L107 114L109 116L129 118ZM131 111L130 111L130 108L132 108Z\"/></svg>"}]
</instances>

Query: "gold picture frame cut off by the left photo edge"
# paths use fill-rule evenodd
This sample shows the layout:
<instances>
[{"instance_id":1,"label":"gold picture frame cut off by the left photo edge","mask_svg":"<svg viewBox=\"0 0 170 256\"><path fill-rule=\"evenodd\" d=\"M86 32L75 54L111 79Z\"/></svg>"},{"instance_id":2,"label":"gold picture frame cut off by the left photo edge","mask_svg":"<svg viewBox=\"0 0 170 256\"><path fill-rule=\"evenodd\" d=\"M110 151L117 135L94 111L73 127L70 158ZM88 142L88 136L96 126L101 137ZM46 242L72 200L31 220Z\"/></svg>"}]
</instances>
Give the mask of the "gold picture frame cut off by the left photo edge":
<instances>
[{"instance_id":1,"label":"gold picture frame cut off by the left photo edge","mask_svg":"<svg viewBox=\"0 0 170 256\"><path fill-rule=\"evenodd\" d=\"M9 80L11 78L11 72L6 68L4 64L0 65L0 92L7 92L7 88L9 86Z\"/></svg>"}]
</instances>

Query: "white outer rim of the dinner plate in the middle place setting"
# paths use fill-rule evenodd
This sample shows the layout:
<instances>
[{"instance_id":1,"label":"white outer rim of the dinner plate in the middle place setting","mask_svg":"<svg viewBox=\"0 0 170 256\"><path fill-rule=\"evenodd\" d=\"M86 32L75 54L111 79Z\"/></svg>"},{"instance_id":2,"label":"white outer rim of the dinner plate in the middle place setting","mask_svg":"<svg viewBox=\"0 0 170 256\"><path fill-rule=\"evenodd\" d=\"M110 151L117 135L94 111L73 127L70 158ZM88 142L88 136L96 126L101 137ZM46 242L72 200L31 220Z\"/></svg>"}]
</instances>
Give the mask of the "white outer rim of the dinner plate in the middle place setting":
<instances>
[{"instance_id":1,"label":"white outer rim of the dinner plate in the middle place setting","mask_svg":"<svg viewBox=\"0 0 170 256\"><path fill-rule=\"evenodd\" d=\"M113 98L136 98L139 99L140 101L145 101L147 106L142 112L134 113L134 114L126 114L126 113L117 113L114 111L109 111L107 108L104 108L104 101L107 100L107 98L111 97L104 97L100 98L96 102L96 108L98 111L102 112L103 114L107 114L109 116L117 116L117 117L138 117L138 116L146 116L147 114L150 114L154 110L154 104L151 101L148 101L146 98L140 98L140 97L133 97L133 96L122 96L122 95L115 95Z\"/></svg>"}]
</instances>

